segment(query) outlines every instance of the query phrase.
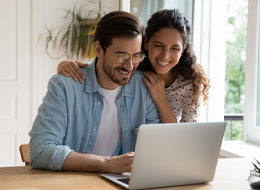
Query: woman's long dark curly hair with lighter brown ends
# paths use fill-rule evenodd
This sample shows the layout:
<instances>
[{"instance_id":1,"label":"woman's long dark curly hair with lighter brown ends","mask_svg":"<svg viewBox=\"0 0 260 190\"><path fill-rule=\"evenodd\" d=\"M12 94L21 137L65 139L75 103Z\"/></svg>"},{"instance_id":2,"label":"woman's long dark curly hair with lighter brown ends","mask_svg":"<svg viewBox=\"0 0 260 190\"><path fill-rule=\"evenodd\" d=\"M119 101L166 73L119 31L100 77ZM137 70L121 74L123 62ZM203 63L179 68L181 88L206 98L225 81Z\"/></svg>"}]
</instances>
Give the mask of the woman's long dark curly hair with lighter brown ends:
<instances>
[{"instance_id":1,"label":"woman's long dark curly hair with lighter brown ends","mask_svg":"<svg viewBox=\"0 0 260 190\"><path fill-rule=\"evenodd\" d=\"M178 9L164 9L154 13L148 20L145 29L146 42L162 28L174 28L181 33L184 51L178 64L172 70L174 73L181 74L185 80L192 80L194 103L198 101L200 93L203 94L203 100L206 102L210 88L209 79L202 66L196 63L197 58L191 45L191 28L188 20ZM147 54L147 51L144 51ZM138 69L154 71L148 57L144 59Z\"/></svg>"}]
</instances>

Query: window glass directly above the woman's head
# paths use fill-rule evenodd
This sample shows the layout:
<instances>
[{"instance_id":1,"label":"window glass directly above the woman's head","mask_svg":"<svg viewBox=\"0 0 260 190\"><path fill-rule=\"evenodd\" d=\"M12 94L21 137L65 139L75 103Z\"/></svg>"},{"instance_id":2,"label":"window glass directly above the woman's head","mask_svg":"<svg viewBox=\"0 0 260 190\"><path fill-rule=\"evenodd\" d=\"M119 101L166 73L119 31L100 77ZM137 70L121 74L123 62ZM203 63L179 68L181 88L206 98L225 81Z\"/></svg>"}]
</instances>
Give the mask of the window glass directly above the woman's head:
<instances>
[{"instance_id":1,"label":"window glass directly above the woman's head","mask_svg":"<svg viewBox=\"0 0 260 190\"><path fill-rule=\"evenodd\" d=\"M146 24L150 16L161 9L179 9L192 26L193 0L131 0L130 12Z\"/></svg>"}]
</instances>

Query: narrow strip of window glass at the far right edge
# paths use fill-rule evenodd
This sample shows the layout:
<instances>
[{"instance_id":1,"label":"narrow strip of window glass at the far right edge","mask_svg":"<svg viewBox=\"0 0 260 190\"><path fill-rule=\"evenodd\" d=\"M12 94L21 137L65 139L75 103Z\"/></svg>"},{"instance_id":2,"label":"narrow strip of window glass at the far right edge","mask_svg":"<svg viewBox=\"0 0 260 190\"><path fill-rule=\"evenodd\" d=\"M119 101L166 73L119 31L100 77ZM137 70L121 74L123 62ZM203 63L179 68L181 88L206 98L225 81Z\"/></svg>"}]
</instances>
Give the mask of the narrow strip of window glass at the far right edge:
<instances>
[{"instance_id":1,"label":"narrow strip of window glass at the far right edge","mask_svg":"<svg viewBox=\"0 0 260 190\"><path fill-rule=\"evenodd\" d=\"M256 106L256 126L260 127L260 3L258 3L258 61L257 61L257 106Z\"/></svg>"}]
</instances>

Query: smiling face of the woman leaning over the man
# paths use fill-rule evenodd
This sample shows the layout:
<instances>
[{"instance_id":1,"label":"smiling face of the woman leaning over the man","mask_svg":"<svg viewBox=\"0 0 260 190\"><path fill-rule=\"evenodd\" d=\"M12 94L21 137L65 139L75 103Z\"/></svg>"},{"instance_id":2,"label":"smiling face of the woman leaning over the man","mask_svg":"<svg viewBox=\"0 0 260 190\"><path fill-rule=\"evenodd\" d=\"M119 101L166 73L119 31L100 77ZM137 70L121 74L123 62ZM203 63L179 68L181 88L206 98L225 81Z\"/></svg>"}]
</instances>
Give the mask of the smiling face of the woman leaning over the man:
<instances>
[{"instance_id":1,"label":"smiling face of the woman leaning over the man","mask_svg":"<svg viewBox=\"0 0 260 190\"><path fill-rule=\"evenodd\" d=\"M145 42L149 60L158 74L168 74L183 52L181 33L173 28L162 28Z\"/></svg>"}]
</instances>

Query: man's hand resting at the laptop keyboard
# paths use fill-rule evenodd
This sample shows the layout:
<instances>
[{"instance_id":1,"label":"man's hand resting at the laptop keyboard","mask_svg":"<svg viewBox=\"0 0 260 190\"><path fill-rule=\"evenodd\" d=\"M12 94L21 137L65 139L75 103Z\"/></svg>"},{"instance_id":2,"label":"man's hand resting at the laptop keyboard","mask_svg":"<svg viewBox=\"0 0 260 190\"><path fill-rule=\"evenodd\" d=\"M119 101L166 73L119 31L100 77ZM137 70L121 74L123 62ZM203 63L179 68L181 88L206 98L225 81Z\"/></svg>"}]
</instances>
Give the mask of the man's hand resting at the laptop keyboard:
<instances>
[{"instance_id":1,"label":"man's hand resting at the laptop keyboard","mask_svg":"<svg viewBox=\"0 0 260 190\"><path fill-rule=\"evenodd\" d=\"M107 156L103 162L103 170L108 173L131 172L134 152L128 152L120 156Z\"/></svg>"}]
</instances>

